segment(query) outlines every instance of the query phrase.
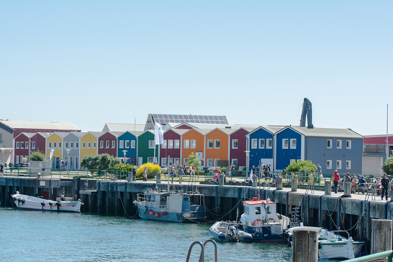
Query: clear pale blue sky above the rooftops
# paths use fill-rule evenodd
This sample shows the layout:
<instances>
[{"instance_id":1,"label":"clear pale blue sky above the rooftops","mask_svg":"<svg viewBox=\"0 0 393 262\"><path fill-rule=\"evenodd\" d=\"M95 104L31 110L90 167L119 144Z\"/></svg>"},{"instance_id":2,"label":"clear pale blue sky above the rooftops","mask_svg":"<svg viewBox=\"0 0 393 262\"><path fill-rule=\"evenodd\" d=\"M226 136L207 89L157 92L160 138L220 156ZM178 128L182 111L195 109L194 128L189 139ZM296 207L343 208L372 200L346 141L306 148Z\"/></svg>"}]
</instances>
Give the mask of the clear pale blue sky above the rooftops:
<instances>
[{"instance_id":1,"label":"clear pale blue sky above the rooftops","mask_svg":"<svg viewBox=\"0 0 393 262\"><path fill-rule=\"evenodd\" d=\"M0 118L230 124L386 133L392 1L0 0ZM393 102L389 105L393 133Z\"/></svg>"}]
</instances>

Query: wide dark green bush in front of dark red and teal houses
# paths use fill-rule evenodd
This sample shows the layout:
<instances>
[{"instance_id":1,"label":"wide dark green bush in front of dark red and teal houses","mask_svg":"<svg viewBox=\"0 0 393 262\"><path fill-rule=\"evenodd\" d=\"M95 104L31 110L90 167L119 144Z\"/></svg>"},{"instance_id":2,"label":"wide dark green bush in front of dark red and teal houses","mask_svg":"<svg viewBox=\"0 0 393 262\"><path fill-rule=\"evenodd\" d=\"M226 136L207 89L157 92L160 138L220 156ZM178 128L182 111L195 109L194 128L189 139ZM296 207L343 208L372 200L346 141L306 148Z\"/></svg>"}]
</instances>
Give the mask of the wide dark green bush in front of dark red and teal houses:
<instances>
[{"instance_id":1,"label":"wide dark green bush in front of dark red and teal houses","mask_svg":"<svg viewBox=\"0 0 393 262\"><path fill-rule=\"evenodd\" d=\"M85 155L81 162L81 166L90 170L91 173L94 170L110 170L116 164L120 164L120 159L111 156L107 153L99 155Z\"/></svg>"}]
</instances>

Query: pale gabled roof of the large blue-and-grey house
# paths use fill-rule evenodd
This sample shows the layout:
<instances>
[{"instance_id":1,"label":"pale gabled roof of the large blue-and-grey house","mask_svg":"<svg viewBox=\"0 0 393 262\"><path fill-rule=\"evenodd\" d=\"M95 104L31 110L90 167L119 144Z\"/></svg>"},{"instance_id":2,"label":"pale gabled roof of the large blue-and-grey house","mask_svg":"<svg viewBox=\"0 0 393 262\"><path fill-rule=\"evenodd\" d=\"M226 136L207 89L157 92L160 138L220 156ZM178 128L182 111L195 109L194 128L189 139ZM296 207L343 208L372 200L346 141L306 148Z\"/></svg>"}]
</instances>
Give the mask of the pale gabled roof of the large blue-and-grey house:
<instances>
[{"instance_id":1,"label":"pale gabled roof of the large blue-and-grey house","mask_svg":"<svg viewBox=\"0 0 393 262\"><path fill-rule=\"evenodd\" d=\"M305 137L340 137L340 138L364 138L362 135L352 131L349 128L321 128L321 127L300 127L300 126L287 126L276 133L280 133L284 129L290 128Z\"/></svg>"}]
</instances>

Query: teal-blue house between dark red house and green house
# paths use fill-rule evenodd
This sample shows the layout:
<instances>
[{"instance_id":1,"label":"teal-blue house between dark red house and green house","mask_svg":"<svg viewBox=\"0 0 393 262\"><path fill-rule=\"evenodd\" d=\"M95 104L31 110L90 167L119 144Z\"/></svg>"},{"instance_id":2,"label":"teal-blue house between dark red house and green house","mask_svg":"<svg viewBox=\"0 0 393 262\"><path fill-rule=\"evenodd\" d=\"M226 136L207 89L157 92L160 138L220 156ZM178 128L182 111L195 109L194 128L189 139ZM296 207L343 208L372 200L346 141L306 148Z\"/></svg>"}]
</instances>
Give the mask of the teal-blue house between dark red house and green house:
<instances>
[{"instance_id":1,"label":"teal-blue house between dark red house and green house","mask_svg":"<svg viewBox=\"0 0 393 262\"><path fill-rule=\"evenodd\" d=\"M125 157L130 158L131 165L136 164L136 158L138 157L137 137L141 133L141 131L125 131L118 137L118 157L124 157L123 150L126 150Z\"/></svg>"}]
</instances>

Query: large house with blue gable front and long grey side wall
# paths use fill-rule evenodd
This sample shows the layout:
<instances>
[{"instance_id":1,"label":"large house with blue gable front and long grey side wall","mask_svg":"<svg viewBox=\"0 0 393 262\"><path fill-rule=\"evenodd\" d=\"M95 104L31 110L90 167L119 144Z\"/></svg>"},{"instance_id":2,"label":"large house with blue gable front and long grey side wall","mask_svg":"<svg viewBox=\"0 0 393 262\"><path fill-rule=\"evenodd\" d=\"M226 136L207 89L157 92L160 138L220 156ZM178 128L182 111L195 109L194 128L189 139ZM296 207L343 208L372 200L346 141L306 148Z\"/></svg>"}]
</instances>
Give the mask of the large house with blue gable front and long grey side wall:
<instances>
[{"instance_id":1,"label":"large house with blue gable front and long grey side wall","mask_svg":"<svg viewBox=\"0 0 393 262\"><path fill-rule=\"evenodd\" d=\"M310 160L323 173L362 173L363 136L351 129L287 126L275 136L275 170Z\"/></svg>"}]
</instances>

